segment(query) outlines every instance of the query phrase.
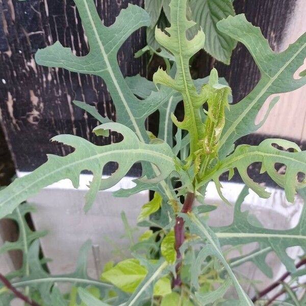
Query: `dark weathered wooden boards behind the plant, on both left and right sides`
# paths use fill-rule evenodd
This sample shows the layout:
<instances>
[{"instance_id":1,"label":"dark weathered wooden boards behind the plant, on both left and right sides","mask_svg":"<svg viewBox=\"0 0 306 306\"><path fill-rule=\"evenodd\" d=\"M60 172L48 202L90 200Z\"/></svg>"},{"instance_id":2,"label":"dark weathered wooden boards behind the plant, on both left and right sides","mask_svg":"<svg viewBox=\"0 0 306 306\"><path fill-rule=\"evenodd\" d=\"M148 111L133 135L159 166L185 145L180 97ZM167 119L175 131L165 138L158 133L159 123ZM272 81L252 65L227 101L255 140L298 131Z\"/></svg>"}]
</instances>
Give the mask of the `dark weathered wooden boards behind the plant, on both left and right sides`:
<instances>
[{"instance_id":1,"label":"dark weathered wooden boards behind the plant, on both left and right sides","mask_svg":"<svg viewBox=\"0 0 306 306\"><path fill-rule=\"evenodd\" d=\"M292 18L295 18L292 16L293 12L296 13L296 2L236 0L234 4L236 12L245 13L249 21L261 28L272 48L279 51L284 48L284 37L288 34ZM120 8L126 7L127 3L142 4L142 1L96 0L99 14L106 25L114 21ZM302 18L300 20L302 22ZM71 102L74 98L86 100L97 105L102 114L114 117L114 108L104 83L96 77L40 67L33 60L38 47L57 39L66 46L72 46L77 55L88 52L72 0L0 0L0 24L0 121L19 170L33 170L46 160L46 153L62 154L60 145L48 141L56 134L77 134L97 141L91 133L96 121ZM124 51L121 50L118 58L124 74L145 72L145 60L133 58L133 52L145 43L144 40L144 32L141 31L123 46ZM216 67L232 86L235 102L245 96L260 78L256 64L242 44L238 44L234 51L230 66L200 52L193 64L194 78L208 75L212 67ZM282 106L279 111L282 111ZM291 122L294 122L294 112L291 114ZM303 112L300 112L302 116ZM152 130L155 122L157 120L152 119ZM271 126L267 129L275 133L276 130ZM257 144L266 137L263 134L267 131L262 130L257 136L244 137L238 142ZM139 174L139 171L132 174Z\"/></svg>"}]
</instances>

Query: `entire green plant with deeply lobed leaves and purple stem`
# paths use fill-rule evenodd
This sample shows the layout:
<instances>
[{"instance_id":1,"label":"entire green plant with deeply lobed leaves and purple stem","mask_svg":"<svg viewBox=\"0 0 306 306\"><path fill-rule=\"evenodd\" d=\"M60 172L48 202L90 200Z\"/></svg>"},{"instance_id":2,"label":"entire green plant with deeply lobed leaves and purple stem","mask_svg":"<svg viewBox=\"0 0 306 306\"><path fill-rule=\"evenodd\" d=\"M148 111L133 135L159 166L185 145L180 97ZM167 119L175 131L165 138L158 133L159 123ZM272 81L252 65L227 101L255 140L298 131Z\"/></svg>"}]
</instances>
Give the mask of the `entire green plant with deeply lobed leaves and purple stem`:
<instances>
[{"instance_id":1,"label":"entire green plant with deeply lobed leaves and purple stem","mask_svg":"<svg viewBox=\"0 0 306 306\"><path fill-rule=\"evenodd\" d=\"M96 146L77 136L55 136L53 141L72 146L74 151L65 157L49 155L45 164L2 190L0 217L16 218L16 213L20 215L18 207L21 202L62 179L71 180L78 188L83 170L93 173L86 195L85 211L88 211L99 190L114 186L135 163L141 162L142 176L135 180L136 186L114 194L120 197L142 190L155 191L154 198L143 206L138 221L139 226L154 226L156 230L147 230L131 247L134 258L107 265L99 282L90 279L86 273L82 274L82 265L71 275L50 277L41 268L36 242L29 249L28 246L25 248L27 258L31 259L30 264L22 268L27 273L22 273L17 281L18 273L10 276L10 281L24 288L24 295L30 295L43 305L68 305L68 302L69 305L79 305L80 299L88 306L253 305L233 268L252 261L271 277L265 258L273 251L289 273L296 273L294 260L286 249L292 246L305 248L306 209L303 208L298 224L287 231L264 228L254 218L250 222L250 214L241 211L248 189L263 198L270 194L249 177L247 168L252 163L261 163L261 173L267 172L285 189L287 199L293 202L296 192L303 198L306 195L306 182L297 179L299 172L306 173L306 152L283 139L266 139L258 146L243 144L234 148L234 144L263 124L264 120L255 124L255 119L269 96L293 91L306 84L304 73L300 79L294 78L306 57L306 35L284 52L276 54L259 28L248 22L243 14L234 16L234 11L230 10L227 18L216 23L216 33L211 34L220 35L230 46L226 52L218 52L217 47L209 43L212 41L210 33L206 37L205 31L187 18L187 0L171 0L169 10L165 11L170 26L164 31L155 28L159 54L167 59L168 69L158 69L152 82L139 75L124 79L117 52L134 31L152 26L150 16L142 8L129 5L110 27L106 27L101 23L93 0L74 2L88 38L89 54L77 57L69 46L56 42L38 50L36 61L40 65L97 75L103 79L116 108L116 122L102 117L85 102L74 101L74 104L101 123L93 130L97 136L105 137L113 131L120 133L123 140ZM159 3L162 7L163 2ZM194 9L196 2L190 3ZM232 5L231 1L225 3L227 9ZM249 50L260 69L261 80L246 97L231 105L228 103L231 88L218 77L217 70L213 69L208 78L193 80L189 63L203 47L228 63L228 53L237 41ZM181 100L184 103L182 121L173 114ZM267 115L277 100L276 97L271 101ZM160 112L159 132L152 135L146 131L145 121L156 110ZM175 135L172 122L177 131ZM103 168L109 162L118 163L118 169L108 179L101 179ZM275 170L276 163L286 165L285 174ZM207 185L213 181L220 197L227 202L222 195L219 177L228 171L231 180L234 169L246 185L236 202L234 221L228 226L209 226L203 213L208 214L215 207L206 205ZM195 200L201 205L194 206ZM31 238L27 241L31 242L34 234L29 232L28 235ZM223 245L238 247L251 242L257 242L259 248L242 258L226 260ZM87 244L81 250L83 260L86 259L84 250ZM19 245L18 248L24 250ZM63 296L52 285L52 279L74 284L70 295ZM234 288L237 294L225 298L230 288ZM7 301L11 297L6 291ZM293 303L295 298L293 293L289 301Z\"/></svg>"}]
</instances>

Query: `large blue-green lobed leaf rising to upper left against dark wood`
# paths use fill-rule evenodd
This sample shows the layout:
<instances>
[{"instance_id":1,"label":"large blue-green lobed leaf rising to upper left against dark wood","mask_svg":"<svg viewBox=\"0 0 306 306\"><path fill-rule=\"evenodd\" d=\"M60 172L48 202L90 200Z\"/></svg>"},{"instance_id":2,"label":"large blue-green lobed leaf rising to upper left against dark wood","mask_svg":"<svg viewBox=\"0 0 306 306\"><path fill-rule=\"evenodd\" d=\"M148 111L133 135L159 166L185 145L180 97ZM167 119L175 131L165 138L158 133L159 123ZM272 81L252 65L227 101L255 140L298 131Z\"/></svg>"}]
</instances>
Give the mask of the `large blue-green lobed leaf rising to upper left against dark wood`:
<instances>
[{"instance_id":1,"label":"large blue-green lobed leaf rising to upper left against dark wood","mask_svg":"<svg viewBox=\"0 0 306 306\"><path fill-rule=\"evenodd\" d=\"M36 62L48 67L65 68L72 72L97 75L102 78L111 94L116 108L116 121L130 127L143 142L150 139L145 129L145 120L169 100L168 92L152 91L146 99L136 97L127 86L121 73L117 53L124 41L136 30L150 25L150 16L142 8L129 4L120 11L116 21L106 27L100 20L93 0L74 0L82 19L89 43L86 56L75 56L70 48L60 42L38 50ZM122 29L126 29L122 31ZM92 109L91 109L92 110ZM143 167L143 176L157 175L155 166ZM175 194L161 182L160 188L168 198ZM133 192L131 190L131 192Z\"/></svg>"}]
</instances>

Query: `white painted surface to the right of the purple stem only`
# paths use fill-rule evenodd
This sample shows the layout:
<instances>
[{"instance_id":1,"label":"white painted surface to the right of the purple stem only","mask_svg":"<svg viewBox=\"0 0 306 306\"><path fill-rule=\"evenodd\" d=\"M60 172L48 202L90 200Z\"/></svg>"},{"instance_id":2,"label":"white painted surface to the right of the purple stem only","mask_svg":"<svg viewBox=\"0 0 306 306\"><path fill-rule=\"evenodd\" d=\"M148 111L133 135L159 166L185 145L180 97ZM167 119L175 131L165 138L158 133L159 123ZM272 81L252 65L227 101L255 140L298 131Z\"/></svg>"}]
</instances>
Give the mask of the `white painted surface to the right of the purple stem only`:
<instances>
[{"instance_id":1,"label":"white painted surface to the right of the purple stem only","mask_svg":"<svg viewBox=\"0 0 306 306\"><path fill-rule=\"evenodd\" d=\"M224 187L224 196L231 202L231 204L234 204L243 188L243 185L235 183L222 183L222 185ZM296 196L295 202L292 204L287 201L283 190L274 188L267 188L267 190L271 192L271 196L268 199L262 199L250 190L249 195L243 202L242 210L250 211L250 213L255 215L266 228L286 230L296 226L303 207L303 200L299 196ZM233 207L224 205L224 203L218 199L218 194L213 184L209 185L207 195L208 204L212 205L215 203L219 206L217 210L210 214L210 225L224 226L231 224L234 216ZM243 253L247 254L255 248L257 248L257 243L245 245L243 247ZM300 250L300 247L293 247L288 249L287 253L292 259L297 259L298 254L301 255ZM233 258L241 256L241 253L238 251L232 251L229 256L230 258ZM266 263L273 269L273 279L265 276L264 273L256 268L254 264L249 262L244 263L235 270L238 278L242 277L242 280L244 279L243 277L246 279L252 279L253 281L256 281L256 287L259 290L262 290L286 272L285 266L281 261L279 261L274 252L268 254ZM250 296L254 295L255 291L250 284L244 283L243 287ZM270 295L272 296L274 292L275 291L272 291Z\"/></svg>"}]
</instances>

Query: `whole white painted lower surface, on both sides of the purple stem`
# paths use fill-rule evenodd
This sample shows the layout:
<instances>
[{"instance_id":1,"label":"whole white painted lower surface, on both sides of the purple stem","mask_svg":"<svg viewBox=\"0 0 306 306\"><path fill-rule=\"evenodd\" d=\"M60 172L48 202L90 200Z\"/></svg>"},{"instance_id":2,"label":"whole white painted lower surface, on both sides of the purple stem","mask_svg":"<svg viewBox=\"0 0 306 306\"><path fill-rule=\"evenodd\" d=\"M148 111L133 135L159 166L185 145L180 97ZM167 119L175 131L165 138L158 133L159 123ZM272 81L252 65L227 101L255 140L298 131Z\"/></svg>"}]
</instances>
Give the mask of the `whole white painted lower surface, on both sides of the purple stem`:
<instances>
[{"instance_id":1,"label":"whole white painted lower surface, on both sides of the purple stem","mask_svg":"<svg viewBox=\"0 0 306 306\"><path fill-rule=\"evenodd\" d=\"M114 197L112 191L120 187L133 186L132 179L124 178L110 190L99 192L93 208L85 214L84 195L90 179L90 175L81 175L79 190L72 189L70 181L64 180L45 188L31 199L38 208L38 212L33 215L36 228L49 231L48 236L41 239L41 243L44 255L53 259L49 268L54 274L73 270L78 250L87 239L100 246L102 264L114 259L112 253L114 246L123 251L121 255L117 252L115 260L120 260L129 253L126 251L129 244L127 239L120 239L124 234L120 213L124 211L131 226L135 227L140 208L148 200L148 193L142 192L129 198ZM243 185L235 183L222 183L222 185L224 196L234 204ZM272 194L269 199L261 199L250 191L243 204L243 210L250 210L265 227L274 229L294 227L299 219L302 200L296 197L295 203L291 204L286 200L284 191L279 189L269 191ZM218 205L218 210L210 215L210 225L222 226L232 222L233 206L227 206L221 201L213 183L208 186L206 203ZM140 233L140 231L136 233L136 238ZM111 243L106 237L110 238ZM253 247L254 245L244 247L244 251L249 252ZM292 258L296 257L298 251L299 248L290 250ZM232 256L234 255L239 254L232 253ZM274 279L284 273L285 268L273 253L267 257L267 263L274 270ZM251 263L242 265L237 271L240 275L261 281L259 288L264 288L272 282L272 279L265 277ZM96 276L92 253L89 256L89 273L92 277ZM245 289L249 294L253 294L251 286L246 285Z\"/></svg>"}]
</instances>

